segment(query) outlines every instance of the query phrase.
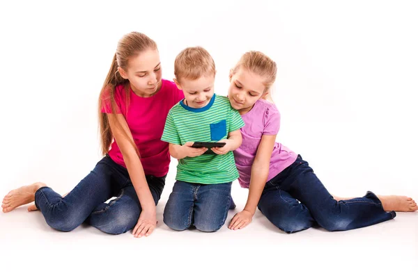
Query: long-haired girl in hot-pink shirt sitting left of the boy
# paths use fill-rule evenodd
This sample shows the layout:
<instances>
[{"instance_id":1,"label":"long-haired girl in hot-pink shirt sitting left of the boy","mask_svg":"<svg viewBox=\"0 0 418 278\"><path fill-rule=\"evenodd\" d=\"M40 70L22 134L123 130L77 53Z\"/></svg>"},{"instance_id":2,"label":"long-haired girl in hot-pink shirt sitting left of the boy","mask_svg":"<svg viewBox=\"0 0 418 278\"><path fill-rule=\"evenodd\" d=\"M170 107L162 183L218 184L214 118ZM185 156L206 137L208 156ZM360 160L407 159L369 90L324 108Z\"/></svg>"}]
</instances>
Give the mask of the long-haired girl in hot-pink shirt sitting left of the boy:
<instances>
[{"instance_id":1,"label":"long-haired girl in hot-pink shirt sitting left of the boy","mask_svg":"<svg viewBox=\"0 0 418 278\"><path fill-rule=\"evenodd\" d=\"M104 157L65 197L33 183L10 191L3 212L35 201L28 210L40 209L59 231L86 221L108 234L133 229L135 237L148 236L170 163L169 143L160 138L170 108L183 97L162 79L157 44L142 33L123 36L99 97Z\"/></svg>"}]
</instances>

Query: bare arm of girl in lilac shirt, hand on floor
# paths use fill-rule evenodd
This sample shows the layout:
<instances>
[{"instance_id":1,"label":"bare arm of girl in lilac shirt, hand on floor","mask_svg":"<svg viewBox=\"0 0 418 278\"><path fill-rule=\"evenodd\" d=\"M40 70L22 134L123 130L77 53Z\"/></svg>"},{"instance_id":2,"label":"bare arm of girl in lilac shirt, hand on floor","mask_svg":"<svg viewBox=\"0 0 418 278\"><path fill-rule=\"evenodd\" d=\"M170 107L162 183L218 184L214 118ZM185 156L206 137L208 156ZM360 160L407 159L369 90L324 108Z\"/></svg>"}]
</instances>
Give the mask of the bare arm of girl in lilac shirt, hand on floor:
<instances>
[{"instance_id":1,"label":"bare arm of girl in lilac shirt, hand on floor","mask_svg":"<svg viewBox=\"0 0 418 278\"><path fill-rule=\"evenodd\" d=\"M270 158L272 156L275 141L276 135L263 135L261 137L256 158L251 167L247 204L245 204L244 210L235 214L232 218L229 229L235 230L244 228L251 222L254 213L256 213L258 201L260 201L261 193L263 193L265 183L267 182L270 169Z\"/></svg>"}]
</instances>

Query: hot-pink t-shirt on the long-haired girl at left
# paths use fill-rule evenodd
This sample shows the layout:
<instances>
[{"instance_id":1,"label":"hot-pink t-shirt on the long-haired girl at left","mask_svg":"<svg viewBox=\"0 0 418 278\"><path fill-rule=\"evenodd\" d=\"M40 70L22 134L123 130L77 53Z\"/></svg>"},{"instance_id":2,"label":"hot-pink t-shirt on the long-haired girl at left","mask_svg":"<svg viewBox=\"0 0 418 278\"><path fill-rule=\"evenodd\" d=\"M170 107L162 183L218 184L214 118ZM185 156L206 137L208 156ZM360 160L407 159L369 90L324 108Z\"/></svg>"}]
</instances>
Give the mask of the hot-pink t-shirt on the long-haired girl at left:
<instances>
[{"instance_id":1,"label":"hot-pink t-shirt on the long-haired girl at left","mask_svg":"<svg viewBox=\"0 0 418 278\"><path fill-rule=\"evenodd\" d=\"M171 107L184 98L183 91L176 84L162 80L162 86L152 97L139 97L130 88L130 104L125 107L125 87L118 85L115 90L116 113L122 113L139 149L145 174L162 177L169 172L169 143L161 140L164 124ZM104 101L102 113L111 113L110 100ZM126 167L121 150L114 140L109 150L113 161Z\"/></svg>"}]
</instances>

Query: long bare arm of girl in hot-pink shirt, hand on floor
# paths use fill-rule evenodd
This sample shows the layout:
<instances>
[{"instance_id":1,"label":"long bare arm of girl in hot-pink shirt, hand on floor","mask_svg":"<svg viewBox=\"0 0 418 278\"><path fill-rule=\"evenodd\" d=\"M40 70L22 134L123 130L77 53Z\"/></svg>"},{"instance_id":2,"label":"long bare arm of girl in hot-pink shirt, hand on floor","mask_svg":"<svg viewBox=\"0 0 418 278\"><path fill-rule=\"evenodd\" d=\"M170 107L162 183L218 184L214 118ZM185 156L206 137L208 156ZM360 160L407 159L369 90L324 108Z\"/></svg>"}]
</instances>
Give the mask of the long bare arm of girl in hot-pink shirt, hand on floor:
<instances>
[{"instance_id":1,"label":"long bare arm of girl in hot-pink shirt, hand on floor","mask_svg":"<svg viewBox=\"0 0 418 278\"><path fill-rule=\"evenodd\" d=\"M134 234L135 237L148 236L153 232L157 224L155 202L146 181L144 168L142 167L134 146L131 144L131 142L134 142L132 133L122 114L107 114L107 117L109 119L111 132L121 149L123 161L125 162L127 172L129 173L142 207L139 220L134 227L132 234ZM131 141L125 136L128 136Z\"/></svg>"}]
</instances>

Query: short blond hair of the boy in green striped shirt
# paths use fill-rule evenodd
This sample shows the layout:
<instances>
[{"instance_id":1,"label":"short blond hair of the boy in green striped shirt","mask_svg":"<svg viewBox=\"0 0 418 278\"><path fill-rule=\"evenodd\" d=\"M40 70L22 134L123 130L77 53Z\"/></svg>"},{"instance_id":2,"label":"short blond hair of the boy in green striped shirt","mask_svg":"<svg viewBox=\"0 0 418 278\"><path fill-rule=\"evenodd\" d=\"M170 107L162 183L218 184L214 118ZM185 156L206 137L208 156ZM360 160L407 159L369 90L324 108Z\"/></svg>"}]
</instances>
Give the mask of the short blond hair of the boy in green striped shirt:
<instances>
[{"instance_id":1,"label":"short blond hair of the boy in green striped shirt","mask_svg":"<svg viewBox=\"0 0 418 278\"><path fill-rule=\"evenodd\" d=\"M187 47L174 61L174 75L180 79L196 80L201 76L215 75L215 61L203 47Z\"/></svg>"}]
</instances>

